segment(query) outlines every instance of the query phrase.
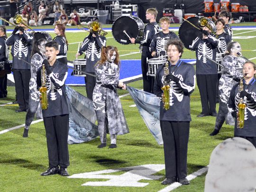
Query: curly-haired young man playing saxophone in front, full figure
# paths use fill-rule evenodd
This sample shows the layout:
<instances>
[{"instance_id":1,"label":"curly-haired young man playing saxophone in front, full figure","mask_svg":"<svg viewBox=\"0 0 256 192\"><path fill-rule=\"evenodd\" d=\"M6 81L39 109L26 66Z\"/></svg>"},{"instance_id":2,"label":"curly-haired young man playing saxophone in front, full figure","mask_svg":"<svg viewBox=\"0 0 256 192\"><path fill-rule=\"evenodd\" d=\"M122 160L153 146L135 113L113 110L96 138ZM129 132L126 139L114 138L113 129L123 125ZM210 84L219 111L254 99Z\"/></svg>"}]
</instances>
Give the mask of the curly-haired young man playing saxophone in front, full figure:
<instances>
[{"instance_id":1,"label":"curly-haired young man playing saxophone in front, full figure","mask_svg":"<svg viewBox=\"0 0 256 192\"><path fill-rule=\"evenodd\" d=\"M191 64L180 60L183 43L174 39L166 44L168 70L166 65L157 69L154 93L161 97L165 82L170 85L170 109L164 109L164 100L160 103L160 126L165 152L165 180L161 184L189 184L187 180L187 151L189 141L190 94L195 89L195 71ZM171 99L172 98L172 99ZM182 111L182 113L181 113Z\"/></svg>"}]
</instances>

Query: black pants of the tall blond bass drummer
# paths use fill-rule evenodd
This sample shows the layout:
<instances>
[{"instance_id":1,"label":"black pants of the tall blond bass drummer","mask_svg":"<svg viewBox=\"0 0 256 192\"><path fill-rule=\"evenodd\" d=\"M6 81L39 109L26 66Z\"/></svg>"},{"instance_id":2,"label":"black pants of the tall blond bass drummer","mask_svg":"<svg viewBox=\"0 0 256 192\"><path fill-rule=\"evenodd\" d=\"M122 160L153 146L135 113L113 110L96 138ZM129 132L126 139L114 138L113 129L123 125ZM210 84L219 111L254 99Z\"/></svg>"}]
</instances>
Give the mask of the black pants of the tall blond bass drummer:
<instances>
[{"instance_id":1,"label":"black pants of the tall blond bass drummer","mask_svg":"<svg viewBox=\"0 0 256 192\"><path fill-rule=\"evenodd\" d=\"M146 75L148 72L148 65L146 62L146 58L151 58L146 55L141 55L141 70L142 70L142 78L143 78L143 90L145 92L151 92L153 93L153 87L154 87L154 77Z\"/></svg>"}]
</instances>

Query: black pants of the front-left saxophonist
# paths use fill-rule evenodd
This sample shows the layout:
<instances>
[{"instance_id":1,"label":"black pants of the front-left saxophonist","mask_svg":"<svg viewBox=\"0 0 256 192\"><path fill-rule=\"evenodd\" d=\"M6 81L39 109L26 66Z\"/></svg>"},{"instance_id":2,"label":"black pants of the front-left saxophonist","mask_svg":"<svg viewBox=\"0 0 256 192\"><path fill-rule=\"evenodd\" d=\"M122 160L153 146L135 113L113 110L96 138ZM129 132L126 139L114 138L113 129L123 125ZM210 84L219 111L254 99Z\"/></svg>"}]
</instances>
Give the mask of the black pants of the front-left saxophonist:
<instances>
[{"instance_id":1,"label":"black pants of the front-left saxophonist","mask_svg":"<svg viewBox=\"0 0 256 192\"><path fill-rule=\"evenodd\" d=\"M68 126L69 115L44 117L49 167L68 167Z\"/></svg>"}]
</instances>

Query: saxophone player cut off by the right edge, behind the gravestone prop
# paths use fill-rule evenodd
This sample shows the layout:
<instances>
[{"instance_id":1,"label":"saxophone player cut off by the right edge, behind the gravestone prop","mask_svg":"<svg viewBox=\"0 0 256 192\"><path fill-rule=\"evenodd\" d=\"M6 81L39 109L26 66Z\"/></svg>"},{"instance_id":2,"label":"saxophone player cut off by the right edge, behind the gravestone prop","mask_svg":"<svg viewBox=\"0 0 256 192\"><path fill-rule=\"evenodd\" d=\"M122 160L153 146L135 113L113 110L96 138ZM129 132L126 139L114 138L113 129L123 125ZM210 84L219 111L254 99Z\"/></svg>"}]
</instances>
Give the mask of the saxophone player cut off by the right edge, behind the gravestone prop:
<instances>
[{"instance_id":1,"label":"saxophone player cut off by the right edge, behind the gravestone prop","mask_svg":"<svg viewBox=\"0 0 256 192\"><path fill-rule=\"evenodd\" d=\"M243 91L239 92L239 83L233 86L228 101L229 111L232 112L235 117L235 129L234 136L247 139L256 147L256 65L251 61L247 61L243 66ZM244 114L244 128L238 128L237 111L238 100L244 99L246 104Z\"/></svg>"}]
</instances>

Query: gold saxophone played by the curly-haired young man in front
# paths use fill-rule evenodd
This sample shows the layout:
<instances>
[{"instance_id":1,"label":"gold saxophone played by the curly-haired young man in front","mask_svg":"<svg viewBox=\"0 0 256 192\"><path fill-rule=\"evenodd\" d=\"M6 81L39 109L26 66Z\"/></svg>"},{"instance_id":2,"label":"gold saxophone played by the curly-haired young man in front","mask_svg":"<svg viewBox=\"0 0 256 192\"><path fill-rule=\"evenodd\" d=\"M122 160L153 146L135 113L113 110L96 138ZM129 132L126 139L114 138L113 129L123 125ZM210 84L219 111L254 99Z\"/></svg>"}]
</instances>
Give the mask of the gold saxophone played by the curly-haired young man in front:
<instances>
[{"instance_id":1,"label":"gold saxophone played by the curly-haired young man in front","mask_svg":"<svg viewBox=\"0 0 256 192\"><path fill-rule=\"evenodd\" d=\"M168 65L168 59L165 63L165 67L164 67L164 85L163 87L161 87L161 89L163 90L163 94L162 94L162 101L164 103L164 109L168 110L170 109L170 85L169 85L169 81L166 81L166 76L169 75L169 65Z\"/></svg>"}]
</instances>

